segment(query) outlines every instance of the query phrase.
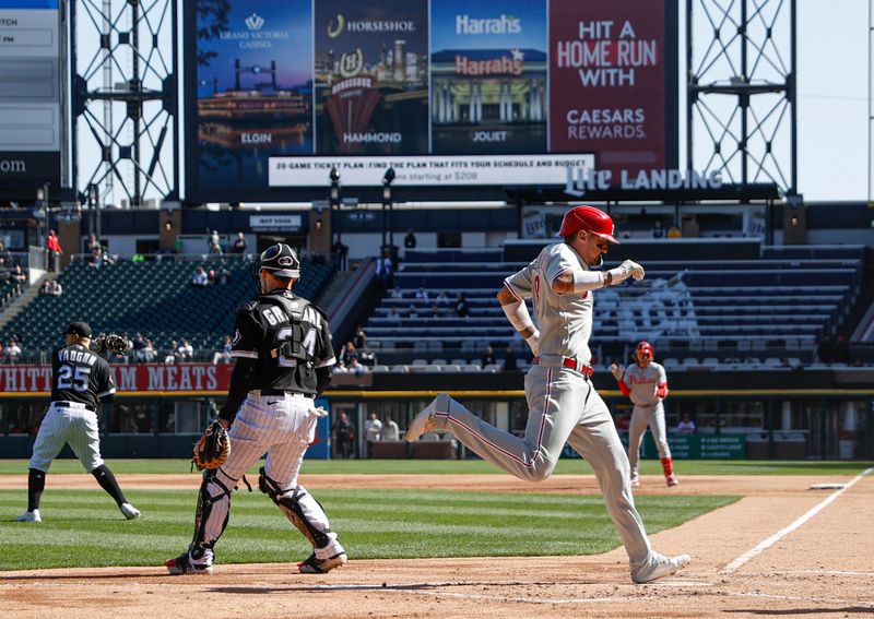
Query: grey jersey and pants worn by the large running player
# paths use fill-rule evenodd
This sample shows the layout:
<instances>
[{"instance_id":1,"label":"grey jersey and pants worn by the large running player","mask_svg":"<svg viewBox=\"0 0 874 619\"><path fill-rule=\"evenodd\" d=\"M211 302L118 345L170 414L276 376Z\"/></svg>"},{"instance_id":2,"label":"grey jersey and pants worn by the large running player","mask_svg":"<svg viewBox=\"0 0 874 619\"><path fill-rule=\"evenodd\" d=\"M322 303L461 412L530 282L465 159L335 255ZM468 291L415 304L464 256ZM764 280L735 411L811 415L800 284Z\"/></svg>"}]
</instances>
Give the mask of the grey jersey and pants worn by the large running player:
<instances>
[{"instance_id":1,"label":"grey jersey and pants worn by the large running player","mask_svg":"<svg viewBox=\"0 0 874 619\"><path fill-rule=\"evenodd\" d=\"M562 273L580 270L588 266L577 252L556 243L505 281L516 297L532 298L540 328L540 362L525 376L524 438L495 428L448 396L435 401L434 419L438 429L451 431L468 449L525 480L547 478L569 443L594 469L634 568L651 557L651 547L635 509L625 448L589 380L593 293L559 295L552 286Z\"/></svg>"}]
</instances>

